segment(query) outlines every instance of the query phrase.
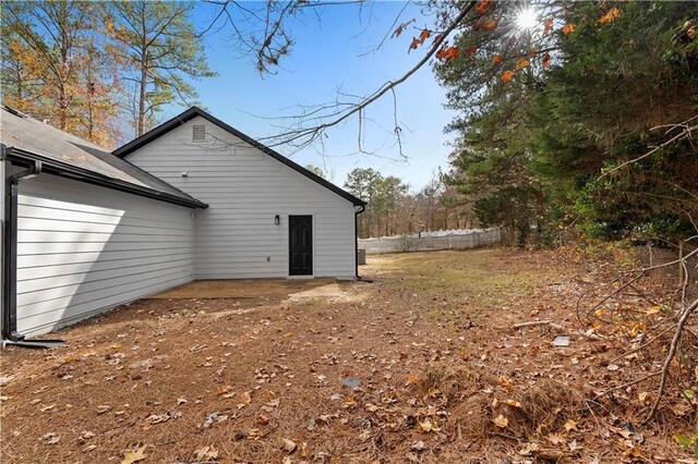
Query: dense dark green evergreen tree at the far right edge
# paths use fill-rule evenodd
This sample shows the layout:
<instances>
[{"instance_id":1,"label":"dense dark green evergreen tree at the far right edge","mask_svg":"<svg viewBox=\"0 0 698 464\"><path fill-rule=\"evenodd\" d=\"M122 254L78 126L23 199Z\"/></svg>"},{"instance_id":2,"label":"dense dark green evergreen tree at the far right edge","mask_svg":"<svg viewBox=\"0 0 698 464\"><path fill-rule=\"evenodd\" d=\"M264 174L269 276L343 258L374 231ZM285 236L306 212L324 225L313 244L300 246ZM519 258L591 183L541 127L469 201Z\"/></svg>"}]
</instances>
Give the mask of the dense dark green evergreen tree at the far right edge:
<instances>
[{"instance_id":1,"label":"dense dark green evergreen tree at the far right edge","mask_svg":"<svg viewBox=\"0 0 698 464\"><path fill-rule=\"evenodd\" d=\"M665 131L652 127L698 114L698 42L672 40L698 7L629 2L610 23L583 21L598 10L579 3L566 17L575 33L559 40L559 64L530 110L533 170L561 213L579 218L587 232L688 236L698 213L698 158L689 141L599 178L660 145Z\"/></svg>"}]
</instances>

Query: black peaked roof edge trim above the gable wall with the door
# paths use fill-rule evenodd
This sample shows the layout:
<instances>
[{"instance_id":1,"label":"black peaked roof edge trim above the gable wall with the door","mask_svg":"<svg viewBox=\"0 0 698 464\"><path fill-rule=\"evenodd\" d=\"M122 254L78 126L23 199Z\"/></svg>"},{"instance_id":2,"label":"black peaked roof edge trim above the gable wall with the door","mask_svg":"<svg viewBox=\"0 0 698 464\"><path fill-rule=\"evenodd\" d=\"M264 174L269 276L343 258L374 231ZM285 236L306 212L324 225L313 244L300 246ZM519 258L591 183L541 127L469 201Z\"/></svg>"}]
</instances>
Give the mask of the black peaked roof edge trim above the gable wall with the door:
<instances>
[{"instance_id":1,"label":"black peaked roof edge trim above the gable wall with the door","mask_svg":"<svg viewBox=\"0 0 698 464\"><path fill-rule=\"evenodd\" d=\"M342 188L339 188L337 185L333 184L332 182L329 182L329 181L321 178L320 175L309 171L308 169L303 168L302 166L300 166L299 163L297 163L294 161L291 161L290 159L288 159L284 155L279 154L278 151L275 151L274 149L272 149L272 148L267 147L266 145L255 141L254 138L250 137L249 135L243 134L242 132L238 131L237 129L232 127L231 125L222 122L218 118L215 118L214 115L209 114L208 112L206 112L206 111L204 111L204 110L202 110L201 108L197 108L197 107L191 107L190 109L188 109L183 113L181 113L179 115L176 115L171 120L158 125L157 127L155 127L152 131L143 134L142 136L140 136L135 141L129 142L124 146L122 146L120 148L117 148L113 151L113 155L116 155L119 158L125 158L127 156L129 156L133 151L137 150L139 148L143 147L144 145L149 144L151 142L155 141L156 138L167 134L168 132L172 131L173 129L179 127L180 125L184 124L188 121L191 121L192 119L194 119L196 117L204 118L206 121L210 122L212 124L215 124L218 127L222 129L224 131L229 132L230 134L232 134L236 137L242 139L243 142L252 145L253 147L260 149L261 151L265 152L266 155L270 156L272 158L276 159L277 161L280 161L284 164L288 166L289 168L300 172L301 174L305 175L308 179L310 179L310 180L312 180L314 182L317 182L320 185L324 186L325 188L328 188L332 192L336 193L337 195L341 196L342 198L348 199L354 206L364 206L366 204L361 198L357 198L356 196L351 195L349 192L347 192L347 191L345 191Z\"/></svg>"}]
</instances>

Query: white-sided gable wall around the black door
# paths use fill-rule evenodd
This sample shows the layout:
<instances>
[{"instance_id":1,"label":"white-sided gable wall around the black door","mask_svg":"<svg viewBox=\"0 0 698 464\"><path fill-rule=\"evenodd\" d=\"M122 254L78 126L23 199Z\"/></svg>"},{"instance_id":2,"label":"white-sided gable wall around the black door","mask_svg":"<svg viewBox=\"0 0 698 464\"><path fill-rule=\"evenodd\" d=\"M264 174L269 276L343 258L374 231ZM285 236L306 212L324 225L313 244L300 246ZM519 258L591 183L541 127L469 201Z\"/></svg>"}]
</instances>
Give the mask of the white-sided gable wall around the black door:
<instances>
[{"instance_id":1,"label":"white-sided gable wall around the black door","mask_svg":"<svg viewBox=\"0 0 698 464\"><path fill-rule=\"evenodd\" d=\"M192 142L193 125L206 126L206 142ZM125 159L209 205L195 212L195 279L288 277L289 215L313 216L314 277L354 277L351 202L207 120L196 117Z\"/></svg>"}]
</instances>

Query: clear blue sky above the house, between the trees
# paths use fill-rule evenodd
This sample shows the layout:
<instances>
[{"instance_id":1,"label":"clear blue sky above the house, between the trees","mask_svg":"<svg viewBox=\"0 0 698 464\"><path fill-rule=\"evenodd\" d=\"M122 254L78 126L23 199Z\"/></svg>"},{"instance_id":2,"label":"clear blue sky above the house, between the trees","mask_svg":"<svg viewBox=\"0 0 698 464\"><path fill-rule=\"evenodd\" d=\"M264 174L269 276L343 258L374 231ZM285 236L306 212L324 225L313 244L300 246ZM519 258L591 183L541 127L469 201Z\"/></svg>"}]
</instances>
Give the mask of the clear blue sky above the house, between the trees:
<instances>
[{"instance_id":1,"label":"clear blue sky above the house, between the trees","mask_svg":"<svg viewBox=\"0 0 698 464\"><path fill-rule=\"evenodd\" d=\"M375 50L404 5L376 2L364 7L361 14L356 5L334 5L322 11L320 22L311 15L297 20L292 24L296 45L277 75L260 75L252 60L232 47L227 32L209 36L208 62L219 75L196 83L200 100L217 118L258 138L278 133L288 124L276 118L298 114L299 106L333 101L338 88L354 95L370 94L402 75L421 58L419 51L407 53L412 35L417 35L411 29ZM200 8L194 20L203 24L210 14L210 10ZM417 24L423 25L424 19L414 7L402 17L417 17ZM277 149L303 166L320 166L338 185L344 184L350 170L373 168L383 175L399 176L417 191L440 166L448 164L450 148L445 143L452 136L443 129L455 113L444 109L445 89L436 84L431 66L410 77L396 94L406 161L394 161L399 158L395 137L381 129L390 131L395 125L392 98L384 98L366 112L376 124L366 123L365 148L376 150L376 155L357 154L356 118L330 130L324 147L298 152L287 147ZM164 115L178 111L181 109L172 108L171 114Z\"/></svg>"}]
</instances>

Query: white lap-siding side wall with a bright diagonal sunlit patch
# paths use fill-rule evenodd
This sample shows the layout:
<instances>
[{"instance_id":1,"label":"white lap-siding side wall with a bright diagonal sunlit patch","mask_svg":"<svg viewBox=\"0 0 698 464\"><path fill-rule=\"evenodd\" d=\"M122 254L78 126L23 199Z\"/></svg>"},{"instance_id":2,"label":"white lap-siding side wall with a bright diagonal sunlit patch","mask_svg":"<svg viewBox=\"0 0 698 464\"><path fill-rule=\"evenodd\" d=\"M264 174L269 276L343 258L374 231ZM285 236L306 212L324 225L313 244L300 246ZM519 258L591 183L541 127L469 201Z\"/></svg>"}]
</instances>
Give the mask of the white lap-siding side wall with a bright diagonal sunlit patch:
<instances>
[{"instance_id":1,"label":"white lap-siding side wall with a bright diagonal sunlit patch","mask_svg":"<svg viewBox=\"0 0 698 464\"><path fill-rule=\"evenodd\" d=\"M192 209L49 174L20 183L17 331L193 280Z\"/></svg>"}]
</instances>

